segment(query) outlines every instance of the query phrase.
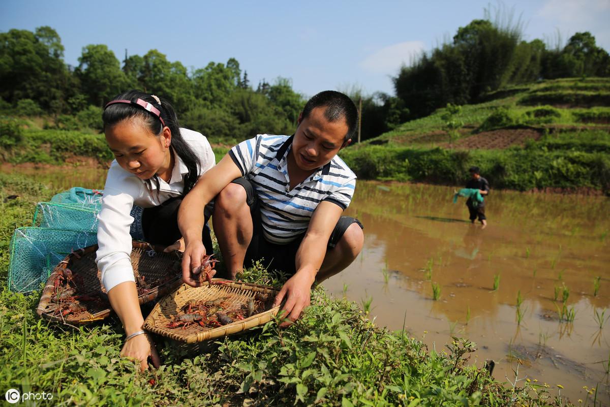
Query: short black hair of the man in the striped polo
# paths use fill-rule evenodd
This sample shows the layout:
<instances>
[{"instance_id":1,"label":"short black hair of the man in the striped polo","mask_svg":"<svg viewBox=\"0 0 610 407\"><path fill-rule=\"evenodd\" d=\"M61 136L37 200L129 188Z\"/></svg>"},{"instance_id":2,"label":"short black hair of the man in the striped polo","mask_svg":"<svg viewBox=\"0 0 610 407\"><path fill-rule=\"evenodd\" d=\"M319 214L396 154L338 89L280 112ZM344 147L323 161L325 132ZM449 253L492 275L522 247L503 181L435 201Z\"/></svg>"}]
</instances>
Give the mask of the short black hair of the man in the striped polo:
<instances>
[{"instance_id":1,"label":"short black hair of the man in the striped polo","mask_svg":"<svg viewBox=\"0 0 610 407\"><path fill-rule=\"evenodd\" d=\"M356 133L358 110L349 96L334 90L322 91L307 101L301 117L303 119L307 118L309 113L316 107L326 107L324 117L329 122L335 122L341 118L345 118L348 129L345 135L345 141L351 140L354 133Z\"/></svg>"}]
</instances>

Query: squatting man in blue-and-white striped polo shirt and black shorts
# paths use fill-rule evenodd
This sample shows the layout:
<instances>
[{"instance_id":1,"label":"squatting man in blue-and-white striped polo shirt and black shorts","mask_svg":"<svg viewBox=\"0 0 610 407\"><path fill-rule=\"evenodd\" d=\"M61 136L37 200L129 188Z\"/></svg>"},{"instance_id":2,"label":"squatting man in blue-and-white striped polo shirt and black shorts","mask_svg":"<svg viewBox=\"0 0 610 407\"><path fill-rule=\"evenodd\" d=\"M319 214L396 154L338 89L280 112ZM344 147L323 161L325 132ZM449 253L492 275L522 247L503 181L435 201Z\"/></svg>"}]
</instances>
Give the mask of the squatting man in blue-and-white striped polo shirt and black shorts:
<instances>
[{"instance_id":1,"label":"squatting man in blue-and-white striped polo shirt and black shorts","mask_svg":"<svg viewBox=\"0 0 610 407\"><path fill-rule=\"evenodd\" d=\"M345 94L312 97L292 136L257 135L233 147L182 201L178 224L185 239L184 281L195 286L205 254L201 229L212 214L214 232L229 272L264 259L292 277L274 305L290 320L309 305L310 288L347 267L362 250L357 219L341 216L350 204L356 175L337 157L356 130L357 110ZM204 207L213 200L213 210ZM285 323L284 325L287 325Z\"/></svg>"}]
</instances>

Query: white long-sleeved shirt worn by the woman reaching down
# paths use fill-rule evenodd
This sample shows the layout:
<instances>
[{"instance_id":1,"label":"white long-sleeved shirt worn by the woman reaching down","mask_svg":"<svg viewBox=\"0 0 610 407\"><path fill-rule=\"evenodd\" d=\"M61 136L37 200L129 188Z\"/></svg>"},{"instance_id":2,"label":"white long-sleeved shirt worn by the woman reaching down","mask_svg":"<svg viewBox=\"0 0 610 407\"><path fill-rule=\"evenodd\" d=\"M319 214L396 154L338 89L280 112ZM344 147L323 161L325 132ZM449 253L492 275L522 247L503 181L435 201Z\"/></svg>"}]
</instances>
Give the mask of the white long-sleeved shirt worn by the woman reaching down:
<instances>
[{"instance_id":1,"label":"white long-sleeved shirt worn by the woman reaching down","mask_svg":"<svg viewBox=\"0 0 610 407\"><path fill-rule=\"evenodd\" d=\"M201 163L199 175L212 168L216 160L207 138L188 129L180 129L180 133ZM135 281L129 235L129 227L134 222L134 218L129 214L131 208L134 205L142 208L156 207L171 197L182 195L184 176L188 174L188 168L175 152L174 158L170 182L159 178L158 197L154 182L151 183L152 188L149 191L144 180L125 171L118 165L117 160L112 161L104 186L102 209L98 214L99 248L95 259L106 292L124 281Z\"/></svg>"}]
</instances>

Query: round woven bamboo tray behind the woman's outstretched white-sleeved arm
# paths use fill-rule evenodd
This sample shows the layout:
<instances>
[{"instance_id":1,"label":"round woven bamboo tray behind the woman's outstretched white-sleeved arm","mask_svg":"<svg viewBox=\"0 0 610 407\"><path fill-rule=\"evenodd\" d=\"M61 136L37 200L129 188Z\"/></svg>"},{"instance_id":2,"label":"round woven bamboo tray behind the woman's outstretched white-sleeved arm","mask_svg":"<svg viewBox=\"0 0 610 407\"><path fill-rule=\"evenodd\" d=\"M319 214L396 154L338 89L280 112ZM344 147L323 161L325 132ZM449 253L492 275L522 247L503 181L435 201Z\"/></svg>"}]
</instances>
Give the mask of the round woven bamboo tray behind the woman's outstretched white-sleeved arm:
<instances>
[{"instance_id":1,"label":"round woven bamboo tray behind the woman's outstretched white-sleeved arm","mask_svg":"<svg viewBox=\"0 0 610 407\"><path fill-rule=\"evenodd\" d=\"M163 253L164 247L151 246L145 242L133 242L131 251L131 264L134 269L136 287L138 288L138 302L140 305L156 300L173 291L182 281L180 272L180 257L178 252ZM82 325L88 322L101 320L112 313L106 289L101 284L101 272L95 264L97 245L85 247L70 253L51 272L46 286L43 289L40 302L38 302L37 314L51 320L57 320L66 324ZM60 314L60 305L56 297L56 280L66 275L66 269L70 269L73 278L70 283L74 289L73 297L76 297L79 305L84 310L70 313L66 316ZM142 286L145 283L149 288ZM65 284L65 277L60 285ZM82 299L82 296L93 297L93 299ZM81 297L81 298L79 298ZM70 303L59 301L62 306Z\"/></svg>"}]
</instances>

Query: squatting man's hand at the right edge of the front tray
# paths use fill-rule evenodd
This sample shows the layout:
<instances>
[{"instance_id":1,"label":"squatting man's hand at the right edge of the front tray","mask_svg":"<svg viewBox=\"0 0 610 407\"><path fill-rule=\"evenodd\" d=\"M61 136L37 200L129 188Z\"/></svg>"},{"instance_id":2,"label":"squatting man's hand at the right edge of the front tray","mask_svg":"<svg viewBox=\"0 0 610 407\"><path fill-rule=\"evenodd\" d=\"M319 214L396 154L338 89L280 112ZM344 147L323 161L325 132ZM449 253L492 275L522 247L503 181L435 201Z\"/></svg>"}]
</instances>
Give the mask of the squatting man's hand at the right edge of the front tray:
<instances>
[{"instance_id":1,"label":"squatting man's hand at the right edge of the front tray","mask_svg":"<svg viewBox=\"0 0 610 407\"><path fill-rule=\"evenodd\" d=\"M311 286L314 284L315 274L307 272L305 270L296 272L295 275L290 277L288 281L282 286L278 295L273 301L273 306L278 306L286 299L284 306L279 311L282 317L287 318L279 326L281 328L288 327L293 322L301 317L303 310L309 306L311 302Z\"/></svg>"}]
</instances>

